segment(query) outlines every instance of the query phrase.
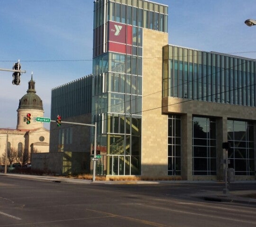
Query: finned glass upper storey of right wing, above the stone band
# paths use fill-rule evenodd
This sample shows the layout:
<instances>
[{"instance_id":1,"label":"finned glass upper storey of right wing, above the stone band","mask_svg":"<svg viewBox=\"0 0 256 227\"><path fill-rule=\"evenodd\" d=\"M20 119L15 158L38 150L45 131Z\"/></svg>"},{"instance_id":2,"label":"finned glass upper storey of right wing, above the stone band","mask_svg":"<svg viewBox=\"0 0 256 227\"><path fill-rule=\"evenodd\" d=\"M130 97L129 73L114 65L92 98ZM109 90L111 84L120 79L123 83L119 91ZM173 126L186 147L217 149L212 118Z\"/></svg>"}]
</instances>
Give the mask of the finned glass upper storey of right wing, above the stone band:
<instances>
[{"instance_id":1,"label":"finned glass upper storey of right wing, above the stone band","mask_svg":"<svg viewBox=\"0 0 256 227\"><path fill-rule=\"evenodd\" d=\"M252 59L164 47L163 97L255 107L255 65Z\"/></svg>"}]
</instances>

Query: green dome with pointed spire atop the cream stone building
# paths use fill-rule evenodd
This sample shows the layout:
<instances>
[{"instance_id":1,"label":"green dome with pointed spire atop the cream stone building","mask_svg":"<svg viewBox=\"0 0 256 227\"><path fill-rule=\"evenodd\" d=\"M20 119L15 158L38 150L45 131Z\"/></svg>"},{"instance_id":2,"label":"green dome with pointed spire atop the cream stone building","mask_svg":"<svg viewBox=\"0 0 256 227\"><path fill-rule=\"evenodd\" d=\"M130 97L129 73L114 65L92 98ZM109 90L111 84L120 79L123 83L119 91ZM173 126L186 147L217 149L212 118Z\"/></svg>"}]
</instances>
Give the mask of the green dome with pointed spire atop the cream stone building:
<instances>
[{"instance_id":1,"label":"green dome with pointed spire atop the cream stone building","mask_svg":"<svg viewBox=\"0 0 256 227\"><path fill-rule=\"evenodd\" d=\"M34 84L35 82L31 76L31 80L29 81L29 89L27 89L27 94L20 98L18 109L44 110L43 102L41 101L41 98L36 94Z\"/></svg>"}]
</instances>

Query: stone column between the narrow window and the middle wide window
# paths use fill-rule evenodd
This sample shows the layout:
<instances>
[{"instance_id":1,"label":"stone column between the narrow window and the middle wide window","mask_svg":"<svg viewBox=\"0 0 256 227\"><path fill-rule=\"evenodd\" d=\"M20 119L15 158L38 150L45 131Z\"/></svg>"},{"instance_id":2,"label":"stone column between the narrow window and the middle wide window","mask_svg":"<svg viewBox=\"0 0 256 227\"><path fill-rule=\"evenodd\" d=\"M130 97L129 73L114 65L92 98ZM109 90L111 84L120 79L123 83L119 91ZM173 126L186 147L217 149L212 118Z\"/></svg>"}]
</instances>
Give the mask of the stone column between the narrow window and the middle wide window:
<instances>
[{"instance_id":1,"label":"stone column between the narrow window and the middle wide window","mask_svg":"<svg viewBox=\"0 0 256 227\"><path fill-rule=\"evenodd\" d=\"M181 131L181 177L192 180L192 114L182 115Z\"/></svg>"}]
</instances>

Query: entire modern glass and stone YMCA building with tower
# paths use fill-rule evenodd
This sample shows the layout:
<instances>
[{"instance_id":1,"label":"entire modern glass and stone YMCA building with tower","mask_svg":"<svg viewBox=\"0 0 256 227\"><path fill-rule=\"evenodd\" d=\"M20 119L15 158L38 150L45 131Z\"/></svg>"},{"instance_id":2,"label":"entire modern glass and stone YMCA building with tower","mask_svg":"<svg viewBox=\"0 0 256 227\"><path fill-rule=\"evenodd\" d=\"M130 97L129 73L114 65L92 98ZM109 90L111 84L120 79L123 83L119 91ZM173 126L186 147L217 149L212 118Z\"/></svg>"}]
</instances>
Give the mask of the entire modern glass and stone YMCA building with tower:
<instances>
[{"instance_id":1,"label":"entire modern glass and stone YMCA building with tower","mask_svg":"<svg viewBox=\"0 0 256 227\"><path fill-rule=\"evenodd\" d=\"M255 60L169 45L167 5L98 0L93 21L92 74L52 89L51 119L96 122L97 142L51 123L56 172L91 171L95 150L107 178L223 180L229 142L235 178L255 179Z\"/></svg>"}]
</instances>

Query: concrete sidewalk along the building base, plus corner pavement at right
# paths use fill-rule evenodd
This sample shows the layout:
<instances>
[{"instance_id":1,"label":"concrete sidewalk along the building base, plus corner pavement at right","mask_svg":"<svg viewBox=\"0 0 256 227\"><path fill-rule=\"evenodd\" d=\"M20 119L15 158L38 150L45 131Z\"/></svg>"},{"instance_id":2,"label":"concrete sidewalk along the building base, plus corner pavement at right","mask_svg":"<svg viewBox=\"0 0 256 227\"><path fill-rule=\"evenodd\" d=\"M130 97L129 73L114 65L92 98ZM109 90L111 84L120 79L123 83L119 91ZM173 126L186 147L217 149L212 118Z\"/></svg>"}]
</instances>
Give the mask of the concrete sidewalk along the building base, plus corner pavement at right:
<instances>
[{"instance_id":1,"label":"concrete sidewalk along the building base, plus corner pavement at right","mask_svg":"<svg viewBox=\"0 0 256 227\"><path fill-rule=\"evenodd\" d=\"M123 185L123 184L181 184L181 183L219 183L219 181L94 181L75 179L75 178L65 178L63 176L40 176L40 175L25 175L25 174L3 174L0 176L12 177L12 178L23 178L30 180L39 181L50 181L57 183L74 183L74 184L106 184L106 185ZM235 181L232 183L253 183L256 185L256 181ZM251 196L253 195L253 196ZM256 206L256 190L237 190L229 191L229 193L224 194L223 191L204 191L203 193L198 193L192 195L193 197L203 198L205 201L215 201L215 202L229 202L229 203L243 203L247 205ZM247 197L246 197L247 196Z\"/></svg>"}]
</instances>

